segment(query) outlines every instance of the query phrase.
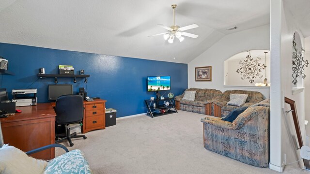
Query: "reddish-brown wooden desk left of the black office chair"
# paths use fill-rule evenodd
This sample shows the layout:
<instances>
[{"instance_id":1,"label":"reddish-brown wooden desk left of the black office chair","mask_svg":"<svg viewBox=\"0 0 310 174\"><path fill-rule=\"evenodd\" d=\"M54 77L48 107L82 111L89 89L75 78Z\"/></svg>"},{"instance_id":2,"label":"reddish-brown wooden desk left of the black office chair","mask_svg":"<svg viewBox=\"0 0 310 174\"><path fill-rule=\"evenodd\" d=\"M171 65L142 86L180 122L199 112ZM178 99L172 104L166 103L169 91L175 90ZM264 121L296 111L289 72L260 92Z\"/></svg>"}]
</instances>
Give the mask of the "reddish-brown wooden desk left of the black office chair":
<instances>
[{"instance_id":1,"label":"reddish-brown wooden desk left of the black office chair","mask_svg":"<svg viewBox=\"0 0 310 174\"><path fill-rule=\"evenodd\" d=\"M22 112L0 118L4 144L13 145L26 152L55 143L56 113L50 103L38 103L36 106L16 109ZM55 150L51 148L31 156L49 160L55 157Z\"/></svg>"}]
</instances>

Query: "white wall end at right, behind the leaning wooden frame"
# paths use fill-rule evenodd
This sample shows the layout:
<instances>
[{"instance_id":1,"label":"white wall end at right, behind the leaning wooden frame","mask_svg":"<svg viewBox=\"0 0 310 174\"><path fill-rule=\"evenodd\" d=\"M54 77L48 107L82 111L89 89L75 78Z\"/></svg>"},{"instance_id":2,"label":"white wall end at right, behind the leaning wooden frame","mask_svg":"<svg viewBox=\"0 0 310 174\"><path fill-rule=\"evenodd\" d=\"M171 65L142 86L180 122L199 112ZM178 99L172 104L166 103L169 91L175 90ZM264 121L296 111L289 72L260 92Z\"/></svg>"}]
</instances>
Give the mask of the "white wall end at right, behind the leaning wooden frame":
<instances>
[{"instance_id":1,"label":"white wall end at right, behind the leaning wooden frame","mask_svg":"<svg viewBox=\"0 0 310 174\"><path fill-rule=\"evenodd\" d=\"M292 41L295 31L299 31L294 23L294 12L289 10L282 0L270 1L270 32L271 32L271 81L274 85L270 87L270 164L271 169L281 172L284 168L284 154L287 162L296 160L294 149L289 141L289 134L285 128L282 108L284 108L284 97L295 101L299 125L304 135L305 102L304 92L292 94ZM301 32L299 32L301 35ZM301 35L302 36L302 35ZM303 43L304 38L300 38ZM303 82L299 81L301 86ZM300 84L298 84L300 85ZM289 110L287 107L285 111ZM294 130L294 128L292 129ZM294 133L293 133L294 134ZM303 136L305 140L305 136ZM296 164L294 164L296 165ZM297 166L296 166L297 167Z\"/></svg>"}]
</instances>

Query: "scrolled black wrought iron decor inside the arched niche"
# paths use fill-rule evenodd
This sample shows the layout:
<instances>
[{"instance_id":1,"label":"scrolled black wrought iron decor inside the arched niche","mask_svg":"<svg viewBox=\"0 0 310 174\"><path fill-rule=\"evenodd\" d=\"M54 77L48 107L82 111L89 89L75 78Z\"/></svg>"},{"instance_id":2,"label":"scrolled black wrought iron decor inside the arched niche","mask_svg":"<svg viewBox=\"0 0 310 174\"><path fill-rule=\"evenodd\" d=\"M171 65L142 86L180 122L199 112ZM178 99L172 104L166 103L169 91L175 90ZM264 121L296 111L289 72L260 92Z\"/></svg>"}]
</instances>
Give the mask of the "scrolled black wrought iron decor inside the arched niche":
<instances>
[{"instance_id":1,"label":"scrolled black wrought iron decor inside the arched niche","mask_svg":"<svg viewBox=\"0 0 310 174\"><path fill-rule=\"evenodd\" d=\"M248 82L253 83L256 77L262 78L263 75L260 74L262 72L262 69L264 70L266 68L266 65L259 62L261 60L260 57L257 57L256 59L251 58L251 50L249 50L249 54L246 57L245 60L240 60L239 64L241 66L237 69L237 73L240 73L243 75L241 77L242 80L249 79Z\"/></svg>"}]
</instances>

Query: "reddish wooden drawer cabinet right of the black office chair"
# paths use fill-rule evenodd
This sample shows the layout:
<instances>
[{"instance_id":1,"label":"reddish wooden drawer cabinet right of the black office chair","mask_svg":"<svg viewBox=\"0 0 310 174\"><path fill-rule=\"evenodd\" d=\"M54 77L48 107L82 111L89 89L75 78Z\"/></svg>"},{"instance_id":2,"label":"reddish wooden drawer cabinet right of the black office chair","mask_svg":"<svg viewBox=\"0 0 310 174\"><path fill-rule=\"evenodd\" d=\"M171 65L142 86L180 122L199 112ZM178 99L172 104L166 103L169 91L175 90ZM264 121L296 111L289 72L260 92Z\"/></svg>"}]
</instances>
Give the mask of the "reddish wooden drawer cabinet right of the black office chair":
<instances>
[{"instance_id":1,"label":"reddish wooden drawer cabinet right of the black office chair","mask_svg":"<svg viewBox=\"0 0 310 174\"><path fill-rule=\"evenodd\" d=\"M84 101L84 118L82 133L97 129L106 129L106 102L96 99L92 102Z\"/></svg>"}]
</instances>

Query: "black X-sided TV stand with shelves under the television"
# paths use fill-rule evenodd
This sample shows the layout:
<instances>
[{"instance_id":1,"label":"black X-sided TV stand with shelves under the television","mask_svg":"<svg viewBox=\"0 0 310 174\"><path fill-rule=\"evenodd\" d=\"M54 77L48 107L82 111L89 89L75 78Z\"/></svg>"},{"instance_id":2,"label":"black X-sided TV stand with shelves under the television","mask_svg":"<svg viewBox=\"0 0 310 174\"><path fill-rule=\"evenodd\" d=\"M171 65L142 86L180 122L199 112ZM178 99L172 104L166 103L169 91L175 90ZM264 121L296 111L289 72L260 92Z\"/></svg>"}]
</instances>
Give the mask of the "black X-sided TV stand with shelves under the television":
<instances>
[{"instance_id":1,"label":"black X-sided TV stand with shelves under the television","mask_svg":"<svg viewBox=\"0 0 310 174\"><path fill-rule=\"evenodd\" d=\"M165 103L159 104L160 102L164 102L164 101L169 102L169 106L166 106ZM155 100L144 100L144 102L148 109L146 115L150 115L152 118L154 118L154 116L162 116L162 115L173 114L173 113L178 112L173 106L174 98L173 98L173 101L171 101L170 98L165 98L165 99L155 99ZM153 106L154 103L156 104L156 107ZM165 113L156 113L155 109L166 109L168 111L166 111Z\"/></svg>"}]
</instances>

